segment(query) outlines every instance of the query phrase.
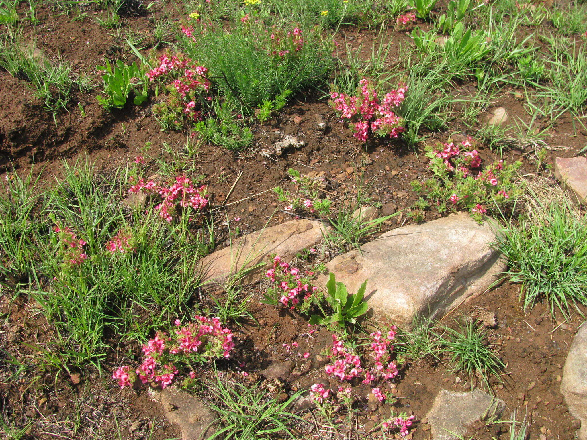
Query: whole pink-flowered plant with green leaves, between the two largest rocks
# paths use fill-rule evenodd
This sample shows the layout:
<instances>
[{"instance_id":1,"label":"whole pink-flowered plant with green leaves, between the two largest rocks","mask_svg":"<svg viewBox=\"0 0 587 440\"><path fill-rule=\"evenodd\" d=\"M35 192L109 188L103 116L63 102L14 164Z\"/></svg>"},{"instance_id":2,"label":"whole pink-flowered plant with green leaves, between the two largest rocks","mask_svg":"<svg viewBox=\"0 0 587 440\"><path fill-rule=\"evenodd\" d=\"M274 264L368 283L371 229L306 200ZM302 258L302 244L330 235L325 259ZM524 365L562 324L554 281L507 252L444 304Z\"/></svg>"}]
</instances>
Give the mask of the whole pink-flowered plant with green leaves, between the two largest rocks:
<instances>
[{"instance_id":1,"label":"whole pink-flowered plant with green leaves, between the two largest rocks","mask_svg":"<svg viewBox=\"0 0 587 440\"><path fill-rule=\"evenodd\" d=\"M301 312L307 312L311 305L312 296L318 290L318 287L311 284L313 275L313 271L305 270L302 272L302 270L282 261L280 256L275 256L273 268L265 273L273 286L269 287L265 294L265 300L261 302L265 304L281 303L292 310L298 307ZM279 300L276 299L278 296Z\"/></svg>"}]
</instances>

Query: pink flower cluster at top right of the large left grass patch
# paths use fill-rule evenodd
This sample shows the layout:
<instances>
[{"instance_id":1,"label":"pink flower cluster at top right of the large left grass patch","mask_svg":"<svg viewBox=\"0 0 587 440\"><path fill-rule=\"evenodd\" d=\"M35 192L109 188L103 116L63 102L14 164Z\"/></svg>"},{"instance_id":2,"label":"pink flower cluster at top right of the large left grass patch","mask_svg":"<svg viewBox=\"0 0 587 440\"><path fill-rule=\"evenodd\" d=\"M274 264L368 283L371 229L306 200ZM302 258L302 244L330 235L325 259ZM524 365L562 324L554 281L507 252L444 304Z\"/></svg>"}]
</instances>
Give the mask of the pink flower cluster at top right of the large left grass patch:
<instances>
[{"instance_id":1,"label":"pink flower cluster at top right of the large left grass patch","mask_svg":"<svg viewBox=\"0 0 587 440\"><path fill-rule=\"evenodd\" d=\"M160 186L156 182L150 180L145 182L143 178L132 185L129 192L144 191L149 194L157 192L163 197L163 202L158 204L155 209L159 211L159 215L168 222L173 218L172 214L176 211L177 205L182 208L190 207L195 210L204 208L208 204L208 199L205 196L205 185L200 188L194 187L190 179L184 175L176 177L176 181L169 187Z\"/></svg>"}]
</instances>

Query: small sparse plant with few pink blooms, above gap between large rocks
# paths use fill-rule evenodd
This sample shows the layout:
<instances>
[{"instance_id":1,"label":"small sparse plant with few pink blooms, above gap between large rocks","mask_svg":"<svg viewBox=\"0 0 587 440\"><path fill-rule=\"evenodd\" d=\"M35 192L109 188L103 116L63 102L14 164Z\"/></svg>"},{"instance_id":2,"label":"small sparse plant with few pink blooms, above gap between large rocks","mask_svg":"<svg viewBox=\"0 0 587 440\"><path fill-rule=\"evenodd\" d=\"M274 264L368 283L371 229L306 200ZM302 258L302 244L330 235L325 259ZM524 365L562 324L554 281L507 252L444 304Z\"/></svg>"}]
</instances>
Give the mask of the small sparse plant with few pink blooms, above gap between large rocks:
<instances>
[{"instance_id":1,"label":"small sparse plant with few pink blooms, above gap between large rocks","mask_svg":"<svg viewBox=\"0 0 587 440\"><path fill-rule=\"evenodd\" d=\"M281 187L274 189L278 200L287 204L285 211L306 211L311 214L316 212L319 216L328 216L330 214L330 200L319 197L319 189L326 186L326 178L308 177L293 168L289 168L288 174L292 183L298 185L295 194L291 194Z\"/></svg>"}]
</instances>

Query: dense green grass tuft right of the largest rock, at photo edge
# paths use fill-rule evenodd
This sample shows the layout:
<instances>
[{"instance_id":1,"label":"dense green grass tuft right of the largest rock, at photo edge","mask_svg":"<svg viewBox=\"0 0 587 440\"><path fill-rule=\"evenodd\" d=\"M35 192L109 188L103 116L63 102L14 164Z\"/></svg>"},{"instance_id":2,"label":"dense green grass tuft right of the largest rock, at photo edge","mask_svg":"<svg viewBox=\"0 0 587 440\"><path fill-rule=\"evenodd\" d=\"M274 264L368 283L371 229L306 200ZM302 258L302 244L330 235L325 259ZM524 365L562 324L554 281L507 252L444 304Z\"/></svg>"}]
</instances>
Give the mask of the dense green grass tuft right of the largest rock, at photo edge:
<instances>
[{"instance_id":1,"label":"dense green grass tuft right of the largest rock, at photo edge","mask_svg":"<svg viewBox=\"0 0 587 440\"><path fill-rule=\"evenodd\" d=\"M521 283L525 308L544 301L552 314L581 313L578 305L587 304L586 222L565 197L537 198L519 226L505 229L499 242L510 262L505 275Z\"/></svg>"}]
</instances>

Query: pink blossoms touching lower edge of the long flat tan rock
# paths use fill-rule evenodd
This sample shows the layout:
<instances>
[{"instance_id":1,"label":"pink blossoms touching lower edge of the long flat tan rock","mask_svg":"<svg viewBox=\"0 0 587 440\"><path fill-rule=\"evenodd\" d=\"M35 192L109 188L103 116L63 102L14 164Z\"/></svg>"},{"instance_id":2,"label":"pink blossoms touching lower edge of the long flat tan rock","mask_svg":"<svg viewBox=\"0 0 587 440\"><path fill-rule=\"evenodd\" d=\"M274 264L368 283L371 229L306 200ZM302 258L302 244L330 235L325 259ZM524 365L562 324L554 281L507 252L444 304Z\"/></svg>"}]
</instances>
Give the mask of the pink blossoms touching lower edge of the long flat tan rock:
<instances>
[{"instance_id":1,"label":"pink blossoms touching lower edge of the long flat tan rock","mask_svg":"<svg viewBox=\"0 0 587 440\"><path fill-rule=\"evenodd\" d=\"M265 272L275 285L275 289L281 292L279 302L286 307L294 309L300 300L308 300L318 287L308 284L309 277L313 272L301 272L298 268L291 267L289 263L283 262L280 256L273 259L273 268ZM291 306L290 306L291 303Z\"/></svg>"}]
</instances>

